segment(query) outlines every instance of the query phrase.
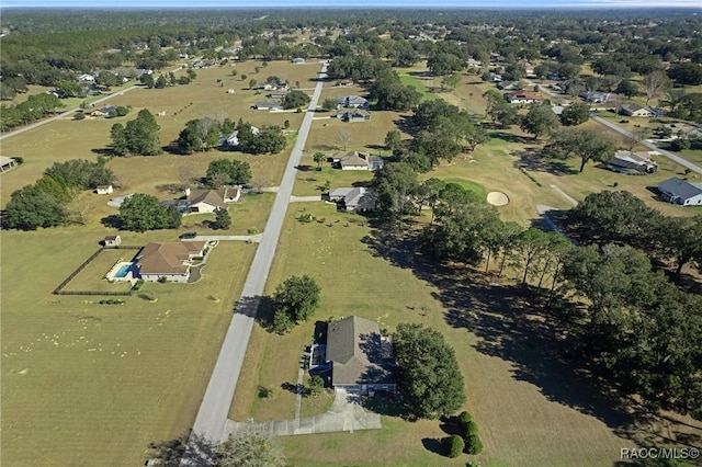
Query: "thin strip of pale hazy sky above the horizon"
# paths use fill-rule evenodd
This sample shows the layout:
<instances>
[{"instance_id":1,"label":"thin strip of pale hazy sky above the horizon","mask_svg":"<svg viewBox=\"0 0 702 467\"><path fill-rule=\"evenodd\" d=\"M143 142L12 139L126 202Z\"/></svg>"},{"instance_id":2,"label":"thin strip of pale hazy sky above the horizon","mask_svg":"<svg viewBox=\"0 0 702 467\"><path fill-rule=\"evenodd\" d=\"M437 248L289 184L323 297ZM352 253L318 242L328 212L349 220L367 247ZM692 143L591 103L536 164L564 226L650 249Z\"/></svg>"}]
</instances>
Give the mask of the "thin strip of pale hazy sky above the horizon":
<instances>
[{"instance_id":1,"label":"thin strip of pale hazy sky above the horizon","mask_svg":"<svg viewBox=\"0 0 702 467\"><path fill-rule=\"evenodd\" d=\"M642 8L687 7L702 10L702 0L0 0L1 8L236 8L236 7L399 7L399 8Z\"/></svg>"}]
</instances>

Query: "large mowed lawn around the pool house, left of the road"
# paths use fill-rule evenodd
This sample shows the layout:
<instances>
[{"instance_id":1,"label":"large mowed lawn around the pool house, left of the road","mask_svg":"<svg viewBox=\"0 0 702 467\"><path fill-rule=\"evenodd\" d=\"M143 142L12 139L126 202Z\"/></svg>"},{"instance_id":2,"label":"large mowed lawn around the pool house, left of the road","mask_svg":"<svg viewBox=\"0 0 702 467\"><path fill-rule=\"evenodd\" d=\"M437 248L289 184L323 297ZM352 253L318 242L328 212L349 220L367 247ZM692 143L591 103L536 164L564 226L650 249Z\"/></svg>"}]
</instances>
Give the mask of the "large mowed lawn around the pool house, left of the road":
<instances>
[{"instance_id":1,"label":"large mowed lawn around the pool house, left of the road","mask_svg":"<svg viewBox=\"0 0 702 467\"><path fill-rule=\"evenodd\" d=\"M146 284L156 303L52 295L103 235L1 234L3 465L144 465L194 422L256 247L220 242L199 283Z\"/></svg>"}]
</instances>

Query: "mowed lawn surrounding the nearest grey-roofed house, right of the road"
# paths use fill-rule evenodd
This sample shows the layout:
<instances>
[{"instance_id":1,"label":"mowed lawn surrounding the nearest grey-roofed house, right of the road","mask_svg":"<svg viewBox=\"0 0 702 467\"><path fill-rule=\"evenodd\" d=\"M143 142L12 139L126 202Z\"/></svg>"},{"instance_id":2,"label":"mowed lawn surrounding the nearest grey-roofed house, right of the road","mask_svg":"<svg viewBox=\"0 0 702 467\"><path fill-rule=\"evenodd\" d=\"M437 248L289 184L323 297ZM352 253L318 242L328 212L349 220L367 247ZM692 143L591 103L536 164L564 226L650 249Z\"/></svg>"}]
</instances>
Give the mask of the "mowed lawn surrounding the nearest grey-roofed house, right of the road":
<instances>
[{"instance_id":1,"label":"mowed lawn surrounding the nearest grey-roofed house, right of the road","mask_svg":"<svg viewBox=\"0 0 702 467\"><path fill-rule=\"evenodd\" d=\"M545 383L516 377L518 364L511 358L480 351L488 339L484 334L487 327L480 326L473 333L457 324L458 316L475 318L475 322L476 317L482 317L494 322L494 332L506 332L500 322L509 322L510 310L471 295L473 278L455 278L454 285L462 285L455 289L460 297L454 299L473 300L474 306L450 306L445 291L418 278L412 269L394 265L377 254L365 240L371 234L367 224L358 224L362 217L337 213L333 206L321 203L305 207L306 212L325 217L327 224L335 223L333 227L297 221L295 217L303 206L288 210L267 293L291 275L309 274L321 287L319 310L315 319L283 337L254 327L231 418L292 418L294 396L282 385L296 380L299 352L313 335L314 321L358 315L389 330L398 322L422 322L445 335L456 351L465 378L465 409L482 429L486 451L477 459L484 465L611 465L619 459L619 448L629 445L626 441L615 436L601 420L559 400L550 400L547 390L540 386ZM344 227L348 220L353 223ZM514 337L506 332L491 339L512 342ZM522 351L528 352L525 348ZM555 378L553 384L568 384L566 375L550 371L546 373ZM259 386L272 388L274 397L259 399ZM579 390L574 389L574 394L577 398ZM439 421L412 423L384 415L383 425L380 431L290 436L282 442L288 463L296 466L465 465L468 459L448 459L423 447L422 441L445 436Z\"/></svg>"}]
</instances>

